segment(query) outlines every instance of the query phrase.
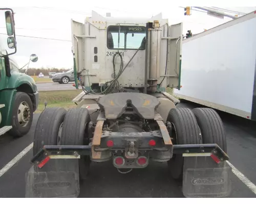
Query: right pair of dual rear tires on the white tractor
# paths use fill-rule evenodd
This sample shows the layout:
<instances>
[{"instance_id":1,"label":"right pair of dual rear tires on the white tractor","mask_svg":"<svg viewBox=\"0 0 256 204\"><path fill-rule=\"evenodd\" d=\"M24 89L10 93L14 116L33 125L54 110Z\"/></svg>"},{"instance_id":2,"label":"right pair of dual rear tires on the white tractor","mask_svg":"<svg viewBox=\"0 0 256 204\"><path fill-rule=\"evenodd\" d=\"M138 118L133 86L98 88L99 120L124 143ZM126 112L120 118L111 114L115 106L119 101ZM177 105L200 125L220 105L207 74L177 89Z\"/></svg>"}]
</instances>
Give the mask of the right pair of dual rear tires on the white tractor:
<instances>
[{"instance_id":1,"label":"right pair of dual rear tires on the white tractor","mask_svg":"<svg viewBox=\"0 0 256 204\"><path fill-rule=\"evenodd\" d=\"M172 124L173 144L218 144L225 152L226 136L218 113L210 108L175 108L169 111L167 121ZM211 161L210 161L211 162ZM184 158L173 155L168 161L170 174L176 180L183 177ZM209 163L208 167L217 164ZM219 164L221 166L223 164Z\"/></svg>"}]
</instances>

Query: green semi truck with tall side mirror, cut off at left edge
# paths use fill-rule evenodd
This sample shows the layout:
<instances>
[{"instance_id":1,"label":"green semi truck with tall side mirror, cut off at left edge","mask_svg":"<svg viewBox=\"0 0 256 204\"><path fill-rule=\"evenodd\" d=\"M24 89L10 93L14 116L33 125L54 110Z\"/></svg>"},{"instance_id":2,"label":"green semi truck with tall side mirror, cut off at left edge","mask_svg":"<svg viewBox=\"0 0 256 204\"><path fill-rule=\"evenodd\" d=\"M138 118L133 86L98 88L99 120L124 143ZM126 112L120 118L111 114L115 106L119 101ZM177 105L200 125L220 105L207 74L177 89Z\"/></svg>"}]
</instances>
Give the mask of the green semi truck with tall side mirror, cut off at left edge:
<instances>
[{"instance_id":1,"label":"green semi truck with tall side mirror, cut off at left edge","mask_svg":"<svg viewBox=\"0 0 256 204\"><path fill-rule=\"evenodd\" d=\"M0 8L0 14L1 21L5 17L7 29L7 43L0 43L0 136L8 132L22 137L30 130L38 106L38 91L33 78L20 72L10 57L17 51L13 10ZM31 55L30 60L37 61L37 56Z\"/></svg>"}]
</instances>

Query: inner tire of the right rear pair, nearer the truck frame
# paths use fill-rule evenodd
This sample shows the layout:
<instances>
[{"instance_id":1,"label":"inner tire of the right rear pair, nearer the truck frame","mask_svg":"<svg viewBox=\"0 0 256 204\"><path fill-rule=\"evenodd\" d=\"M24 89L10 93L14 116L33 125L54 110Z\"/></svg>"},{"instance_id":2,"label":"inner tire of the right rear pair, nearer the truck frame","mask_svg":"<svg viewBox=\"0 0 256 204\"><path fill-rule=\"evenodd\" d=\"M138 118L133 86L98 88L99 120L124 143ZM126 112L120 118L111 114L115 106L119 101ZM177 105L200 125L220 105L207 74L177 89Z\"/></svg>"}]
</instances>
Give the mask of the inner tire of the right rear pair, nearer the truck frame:
<instances>
[{"instance_id":1,"label":"inner tire of the right rear pair, nearer the truck frame","mask_svg":"<svg viewBox=\"0 0 256 204\"><path fill-rule=\"evenodd\" d=\"M197 120L191 110L187 108L172 109L168 114L167 121L173 126L173 144L202 144ZM173 158L168 161L170 174L176 180L181 180L183 177L183 163L182 154L173 155Z\"/></svg>"}]
</instances>

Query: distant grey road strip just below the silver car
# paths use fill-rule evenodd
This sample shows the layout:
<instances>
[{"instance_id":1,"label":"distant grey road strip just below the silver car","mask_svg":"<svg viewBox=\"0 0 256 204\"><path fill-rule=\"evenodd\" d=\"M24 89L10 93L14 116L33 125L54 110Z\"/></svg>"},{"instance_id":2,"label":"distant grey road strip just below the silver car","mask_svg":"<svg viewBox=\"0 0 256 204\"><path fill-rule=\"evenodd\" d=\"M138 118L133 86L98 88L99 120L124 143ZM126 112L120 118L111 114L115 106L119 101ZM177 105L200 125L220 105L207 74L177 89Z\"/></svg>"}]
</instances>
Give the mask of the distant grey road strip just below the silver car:
<instances>
[{"instance_id":1,"label":"distant grey road strip just below the silver car","mask_svg":"<svg viewBox=\"0 0 256 204\"><path fill-rule=\"evenodd\" d=\"M59 83L37 83L38 91L59 91L59 90L75 90L76 88L72 86L73 82L68 84Z\"/></svg>"}]
</instances>

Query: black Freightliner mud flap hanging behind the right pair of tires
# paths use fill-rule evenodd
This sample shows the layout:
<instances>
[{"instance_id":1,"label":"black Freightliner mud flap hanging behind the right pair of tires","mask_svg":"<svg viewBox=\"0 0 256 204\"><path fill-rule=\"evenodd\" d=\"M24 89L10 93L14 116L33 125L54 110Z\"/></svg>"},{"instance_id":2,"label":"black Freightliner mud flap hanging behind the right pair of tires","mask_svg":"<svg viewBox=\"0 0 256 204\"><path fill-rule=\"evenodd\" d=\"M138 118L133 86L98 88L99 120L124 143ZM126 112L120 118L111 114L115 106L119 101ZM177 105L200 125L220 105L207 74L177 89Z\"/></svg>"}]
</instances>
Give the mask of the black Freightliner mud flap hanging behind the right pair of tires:
<instances>
[{"instance_id":1,"label":"black Freightliner mud flap hanging behind the right pair of tires","mask_svg":"<svg viewBox=\"0 0 256 204\"><path fill-rule=\"evenodd\" d=\"M231 167L211 157L184 157L183 195L185 197L226 197L231 193Z\"/></svg>"}]
</instances>

